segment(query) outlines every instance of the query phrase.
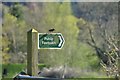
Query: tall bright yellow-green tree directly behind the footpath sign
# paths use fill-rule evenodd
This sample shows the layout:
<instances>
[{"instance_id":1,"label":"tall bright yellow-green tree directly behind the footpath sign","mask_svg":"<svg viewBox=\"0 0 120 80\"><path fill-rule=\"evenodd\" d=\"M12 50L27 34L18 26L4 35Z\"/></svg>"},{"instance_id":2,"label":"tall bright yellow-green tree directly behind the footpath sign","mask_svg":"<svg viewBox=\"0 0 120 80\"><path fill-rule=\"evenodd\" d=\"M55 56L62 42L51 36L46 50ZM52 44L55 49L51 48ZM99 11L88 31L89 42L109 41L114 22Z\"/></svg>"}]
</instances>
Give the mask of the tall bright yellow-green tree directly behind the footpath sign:
<instances>
[{"instance_id":1,"label":"tall bright yellow-green tree directly behind the footpath sign","mask_svg":"<svg viewBox=\"0 0 120 80\"><path fill-rule=\"evenodd\" d=\"M41 24L45 27L45 32L52 27L56 32L62 33L65 38L65 45L61 50L48 50L48 60L50 58L50 63L54 63L53 65L72 65L72 57L77 46L78 29L76 27L77 19L72 16L70 3L44 3L43 5L43 13L46 15L43 16ZM66 33L66 31L69 32Z\"/></svg>"}]
</instances>

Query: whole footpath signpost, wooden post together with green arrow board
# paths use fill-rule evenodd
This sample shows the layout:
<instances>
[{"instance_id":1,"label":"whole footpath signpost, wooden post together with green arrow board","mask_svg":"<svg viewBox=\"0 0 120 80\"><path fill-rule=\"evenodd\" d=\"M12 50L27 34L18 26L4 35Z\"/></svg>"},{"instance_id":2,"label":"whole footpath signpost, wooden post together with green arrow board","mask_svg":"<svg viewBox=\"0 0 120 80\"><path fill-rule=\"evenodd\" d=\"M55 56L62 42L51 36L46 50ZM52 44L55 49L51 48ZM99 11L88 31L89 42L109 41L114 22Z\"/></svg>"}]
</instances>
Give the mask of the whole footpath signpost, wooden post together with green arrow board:
<instances>
[{"instance_id":1,"label":"whole footpath signpost, wooden post together with green arrow board","mask_svg":"<svg viewBox=\"0 0 120 80\"><path fill-rule=\"evenodd\" d=\"M38 33L37 30L30 29L27 32L27 74L38 76L38 49L61 49L64 42L61 33Z\"/></svg>"}]
</instances>

